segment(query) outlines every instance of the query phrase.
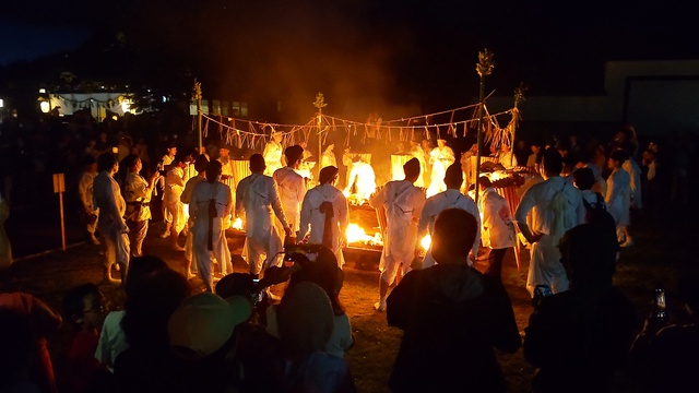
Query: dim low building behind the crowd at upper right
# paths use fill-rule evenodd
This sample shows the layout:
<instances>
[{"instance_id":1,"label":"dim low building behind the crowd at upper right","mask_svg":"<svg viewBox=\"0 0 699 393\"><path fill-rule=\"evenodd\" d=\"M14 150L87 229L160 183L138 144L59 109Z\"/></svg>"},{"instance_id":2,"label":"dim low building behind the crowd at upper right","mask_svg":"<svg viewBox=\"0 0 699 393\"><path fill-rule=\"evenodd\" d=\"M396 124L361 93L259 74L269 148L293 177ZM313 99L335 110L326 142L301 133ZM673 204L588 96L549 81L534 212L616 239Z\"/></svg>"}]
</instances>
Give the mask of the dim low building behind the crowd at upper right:
<instances>
[{"instance_id":1,"label":"dim low building behind the crowd at upper right","mask_svg":"<svg viewBox=\"0 0 699 393\"><path fill-rule=\"evenodd\" d=\"M604 95L526 96L523 124L632 124L641 135L699 131L699 60L608 61ZM511 96L490 97L494 112L512 106Z\"/></svg>"}]
</instances>

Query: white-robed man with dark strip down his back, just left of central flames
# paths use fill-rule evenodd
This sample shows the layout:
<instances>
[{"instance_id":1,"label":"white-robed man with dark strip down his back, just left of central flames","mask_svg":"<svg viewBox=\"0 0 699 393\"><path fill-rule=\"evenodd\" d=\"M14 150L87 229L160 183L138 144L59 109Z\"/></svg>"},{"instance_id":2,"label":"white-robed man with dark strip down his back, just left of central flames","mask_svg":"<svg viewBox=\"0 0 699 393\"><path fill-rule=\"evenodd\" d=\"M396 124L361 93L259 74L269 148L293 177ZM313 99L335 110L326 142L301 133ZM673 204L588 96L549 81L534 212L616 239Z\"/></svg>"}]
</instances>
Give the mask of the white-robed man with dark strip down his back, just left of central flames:
<instances>
[{"instance_id":1,"label":"white-robed man with dark strip down his back, just left of central flames","mask_svg":"<svg viewBox=\"0 0 699 393\"><path fill-rule=\"evenodd\" d=\"M324 167L320 170L320 184L313 187L304 196L301 203L301 227L297 240L308 236L308 243L327 246L335 254L337 265L345 263L342 253L343 239L347 233L347 199L335 188L339 170Z\"/></svg>"}]
</instances>

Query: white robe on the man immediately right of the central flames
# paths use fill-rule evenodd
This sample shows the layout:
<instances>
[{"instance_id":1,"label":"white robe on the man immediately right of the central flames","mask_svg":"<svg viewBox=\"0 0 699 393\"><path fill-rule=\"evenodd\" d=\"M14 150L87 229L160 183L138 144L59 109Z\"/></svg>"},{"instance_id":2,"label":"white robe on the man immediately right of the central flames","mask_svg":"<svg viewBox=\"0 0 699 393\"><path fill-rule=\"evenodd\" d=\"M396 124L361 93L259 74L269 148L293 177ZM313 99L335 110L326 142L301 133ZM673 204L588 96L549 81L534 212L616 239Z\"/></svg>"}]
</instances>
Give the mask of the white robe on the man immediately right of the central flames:
<instances>
[{"instance_id":1,"label":"white robe on the man immediately right of the central flames","mask_svg":"<svg viewBox=\"0 0 699 393\"><path fill-rule=\"evenodd\" d=\"M407 273L415 257L417 221L425 204L425 192L407 180L389 181L369 199L374 209L384 209L387 226L379 270L392 283L399 266Z\"/></svg>"}]
</instances>

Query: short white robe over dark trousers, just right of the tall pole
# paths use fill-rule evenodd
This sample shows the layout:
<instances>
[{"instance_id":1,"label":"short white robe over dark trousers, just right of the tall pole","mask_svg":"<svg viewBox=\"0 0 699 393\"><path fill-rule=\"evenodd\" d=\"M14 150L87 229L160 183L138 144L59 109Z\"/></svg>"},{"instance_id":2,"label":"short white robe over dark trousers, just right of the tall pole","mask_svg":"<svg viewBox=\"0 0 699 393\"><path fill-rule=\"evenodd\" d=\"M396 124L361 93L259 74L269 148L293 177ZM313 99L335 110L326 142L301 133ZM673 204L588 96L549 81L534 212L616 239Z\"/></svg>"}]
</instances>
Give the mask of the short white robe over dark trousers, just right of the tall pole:
<instances>
[{"instance_id":1,"label":"short white robe over dark trousers, just right of the tall pole","mask_svg":"<svg viewBox=\"0 0 699 393\"><path fill-rule=\"evenodd\" d=\"M514 247L517 233L507 200L494 188L487 188L478 199L478 210L483 214L481 230L483 247L494 250Z\"/></svg>"}]
</instances>

